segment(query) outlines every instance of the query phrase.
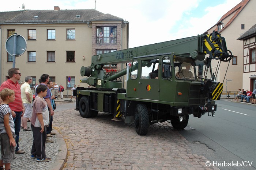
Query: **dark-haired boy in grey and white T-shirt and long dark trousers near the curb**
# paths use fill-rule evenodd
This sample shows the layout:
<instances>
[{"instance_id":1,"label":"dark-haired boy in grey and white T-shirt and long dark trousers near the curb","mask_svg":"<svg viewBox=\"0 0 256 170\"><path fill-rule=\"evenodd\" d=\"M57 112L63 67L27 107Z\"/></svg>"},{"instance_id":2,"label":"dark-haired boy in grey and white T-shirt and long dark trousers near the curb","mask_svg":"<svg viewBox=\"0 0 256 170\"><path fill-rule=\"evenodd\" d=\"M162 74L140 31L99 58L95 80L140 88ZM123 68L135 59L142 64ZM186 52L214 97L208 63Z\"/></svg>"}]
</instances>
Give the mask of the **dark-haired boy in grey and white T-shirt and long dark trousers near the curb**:
<instances>
[{"instance_id":1,"label":"dark-haired boy in grey and white T-shirt and long dark trousers near the curb","mask_svg":"<svg viewBox=\"0 0 256 170\"><path fill-rule=\"evenodd\" d=\"M46 125L49 123L49 110L44 97L46 97L48 90L49 88L44 84L39 84L36 91L37 96L33 102L33 113L31 117L33 145L30 157L37 158L37 162L48 162L51 160L51 158L46 158L45 155Z\"/></svg>"}]
</instances>

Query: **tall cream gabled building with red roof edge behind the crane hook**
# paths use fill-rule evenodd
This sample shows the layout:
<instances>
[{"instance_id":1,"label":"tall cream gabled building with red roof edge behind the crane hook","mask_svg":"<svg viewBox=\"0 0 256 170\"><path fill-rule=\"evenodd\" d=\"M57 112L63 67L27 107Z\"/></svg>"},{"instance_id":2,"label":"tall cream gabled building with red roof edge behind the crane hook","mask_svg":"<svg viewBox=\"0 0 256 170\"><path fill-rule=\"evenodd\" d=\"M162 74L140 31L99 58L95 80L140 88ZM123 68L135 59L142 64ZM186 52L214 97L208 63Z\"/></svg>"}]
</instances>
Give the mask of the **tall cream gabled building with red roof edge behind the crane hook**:
<instances>
[{"instance_id":1,"label":"tall cream gabled building with red roof edge behind the crane hook","mask_svg":"<svg viewBox=\"0 0 256 170\"><path fill-rule=\"evenodd\" d=\"M222 82L224 76L224 86L227 85L227 91L236 92L238 88L250 89L248 76L244 74L244 50L243 42L237 40L244 32L255 24L256 13L253 12L256 7L255 0L241 0L230 11L225 13L221 19L206 32L212 33L213 30L221 33L225 37L228 50L234 55L229 62L222 62L217 77L218 82ZM212 66L217 66L218 60L212 62ZM228 70L226 72L226 69ZM214 70L214 69L213 69Z\"/></svg>"}]
</instances>

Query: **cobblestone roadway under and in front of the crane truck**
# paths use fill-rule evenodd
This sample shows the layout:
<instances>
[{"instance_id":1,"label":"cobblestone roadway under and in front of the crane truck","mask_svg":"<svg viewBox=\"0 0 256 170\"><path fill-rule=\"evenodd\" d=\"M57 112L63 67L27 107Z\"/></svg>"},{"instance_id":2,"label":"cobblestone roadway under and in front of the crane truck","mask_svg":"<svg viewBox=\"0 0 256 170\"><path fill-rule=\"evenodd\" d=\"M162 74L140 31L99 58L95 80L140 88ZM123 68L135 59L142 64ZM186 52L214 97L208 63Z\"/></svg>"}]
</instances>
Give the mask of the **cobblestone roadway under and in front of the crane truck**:
<instances>
[{"instance_id":1,"label":"cobblestone roadway under and in front of the crane truck","mask_svg":"<svg viewBox=\"0 0 256 170\"><path fill-rule=\"evenodd\" d=\"M153 124L139 136L133 124L99 113L85 119L74 109L56 113L53 124L67 143L64 170L90 169L218 169L207 158L191 154L189 142L165 122Z\"/></svg>"}]
</instances>

